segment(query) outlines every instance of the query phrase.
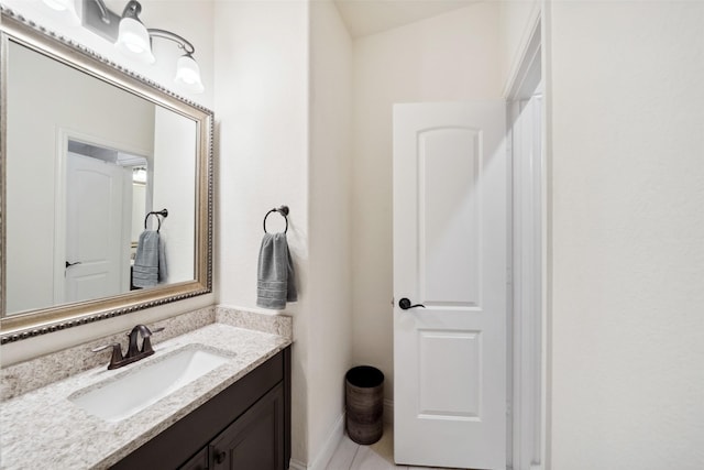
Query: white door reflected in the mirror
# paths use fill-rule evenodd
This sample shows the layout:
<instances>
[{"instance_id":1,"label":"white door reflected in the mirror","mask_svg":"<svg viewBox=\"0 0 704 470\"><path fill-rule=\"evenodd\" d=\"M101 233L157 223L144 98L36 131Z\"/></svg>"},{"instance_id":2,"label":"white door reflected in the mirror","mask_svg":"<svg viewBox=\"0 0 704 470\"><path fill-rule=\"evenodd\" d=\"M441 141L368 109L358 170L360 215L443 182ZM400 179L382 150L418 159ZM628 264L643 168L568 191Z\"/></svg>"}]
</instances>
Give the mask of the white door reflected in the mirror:
<instances>
[{"instance_id":1,"label":"white door reflected in the mirror","mask_svg":"<svg viewBox=\"0 0 704 470\"><path fill-rule=\"evenodd\" d=\"M123 225L131 209L131 168L69 152L66 164L66 263L64 302L127 292L129 258ZM74 264L76 263L76 264Z\"/></svg>"}]
</instances>

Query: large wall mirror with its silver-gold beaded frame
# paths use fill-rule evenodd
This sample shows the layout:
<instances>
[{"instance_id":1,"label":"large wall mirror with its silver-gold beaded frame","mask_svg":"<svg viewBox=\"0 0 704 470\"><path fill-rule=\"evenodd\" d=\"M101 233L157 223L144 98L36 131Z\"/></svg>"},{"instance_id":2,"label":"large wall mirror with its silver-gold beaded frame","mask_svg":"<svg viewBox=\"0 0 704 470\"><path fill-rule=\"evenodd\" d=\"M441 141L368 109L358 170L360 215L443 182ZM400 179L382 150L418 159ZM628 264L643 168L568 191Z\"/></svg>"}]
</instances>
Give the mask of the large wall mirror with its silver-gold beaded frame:
<instances>
[{"instance_id":1,"label":"large wall mirror with its silver-gold beaded frame","mask_svg":"<svg viewBox=\"0 0 704 470\"><path fill-rule=\"evenodd\" d=\"M2 343L211 292L212 112L0 28Z\"/></svg>"}]
</instances>

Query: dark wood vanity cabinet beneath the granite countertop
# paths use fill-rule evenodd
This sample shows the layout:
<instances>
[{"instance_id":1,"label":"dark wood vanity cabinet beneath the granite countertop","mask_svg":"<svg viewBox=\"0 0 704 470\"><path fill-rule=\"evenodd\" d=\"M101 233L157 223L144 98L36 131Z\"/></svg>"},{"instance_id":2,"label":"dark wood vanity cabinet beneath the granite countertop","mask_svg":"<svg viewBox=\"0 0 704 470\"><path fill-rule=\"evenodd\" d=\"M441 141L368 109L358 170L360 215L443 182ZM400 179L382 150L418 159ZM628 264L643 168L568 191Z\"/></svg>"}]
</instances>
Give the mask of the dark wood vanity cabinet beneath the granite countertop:
<instances>
[{"instance_id":1,"label":"dark wood vanity cabinet beneath the granite countertop","mask_svg":"<svg viewBox=\"0 0 704 470\"><path fill-rule=\"evenodd\" d=\"M113 468L286 470L289 459L290 347Z\"/></svg>"}]
</instances>

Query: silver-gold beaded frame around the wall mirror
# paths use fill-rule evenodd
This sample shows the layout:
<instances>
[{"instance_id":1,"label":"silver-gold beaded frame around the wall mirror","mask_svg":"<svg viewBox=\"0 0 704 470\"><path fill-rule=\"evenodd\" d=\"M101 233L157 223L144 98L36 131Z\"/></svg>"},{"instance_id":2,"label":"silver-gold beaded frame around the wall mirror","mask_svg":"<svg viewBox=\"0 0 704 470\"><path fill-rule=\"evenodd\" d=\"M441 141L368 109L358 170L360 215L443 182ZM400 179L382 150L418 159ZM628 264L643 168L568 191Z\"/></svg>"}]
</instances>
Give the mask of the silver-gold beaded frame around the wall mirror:
<instances>
[{"instance_id":1,"label":"silver-gold beaded frame around the wall mirror","mask_svg":"<svg viewBox=\"0 0 704 470\"><path fill-rule=\"evenodd\" d=\"M193 119L197 125L195 278L112 297L65 304L4 316L7 292L7 76L8 48L13 41L105 83L140 96L169 111ZM212 111L188 101L156 83L136 75L70 40L0 6L0 342L2 345L85 325L144 308L212 292Z\"/></svg>"}]
</instances>

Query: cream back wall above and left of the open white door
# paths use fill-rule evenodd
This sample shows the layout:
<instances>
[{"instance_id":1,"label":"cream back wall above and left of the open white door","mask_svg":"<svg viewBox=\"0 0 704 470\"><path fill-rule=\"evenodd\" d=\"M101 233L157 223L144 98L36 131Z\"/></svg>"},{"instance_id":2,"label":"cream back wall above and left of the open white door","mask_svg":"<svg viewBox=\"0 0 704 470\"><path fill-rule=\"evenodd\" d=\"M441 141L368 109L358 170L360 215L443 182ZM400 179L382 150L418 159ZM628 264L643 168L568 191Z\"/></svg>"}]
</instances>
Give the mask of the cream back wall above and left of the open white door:
<instances>
[{"instance_id":1,"label":"cream back wall above and left of the open white door","mask_svg":"<svg viewBox=\"0 0 704 470\"><path fill-rule=\"evenodd\" d=\"M393 397L392 106L501 97L497 3L477 3L354 43L353 362Z\"/></svg>"}]
</instances>

